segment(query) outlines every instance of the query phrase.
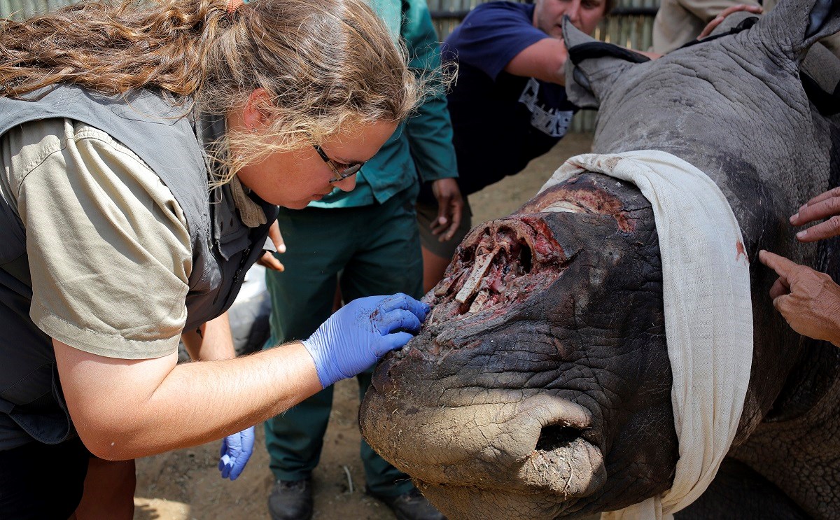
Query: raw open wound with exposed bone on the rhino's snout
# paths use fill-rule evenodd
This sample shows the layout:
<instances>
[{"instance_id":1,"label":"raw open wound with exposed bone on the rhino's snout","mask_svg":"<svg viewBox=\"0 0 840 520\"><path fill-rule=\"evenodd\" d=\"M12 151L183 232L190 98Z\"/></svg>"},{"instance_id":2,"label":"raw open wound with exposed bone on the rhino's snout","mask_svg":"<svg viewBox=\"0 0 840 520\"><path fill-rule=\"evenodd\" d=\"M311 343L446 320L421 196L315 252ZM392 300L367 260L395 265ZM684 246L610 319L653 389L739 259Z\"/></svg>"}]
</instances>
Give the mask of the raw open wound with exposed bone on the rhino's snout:
<instances>
[{"instance_id":1,"label":"raw open wound with exposed bone on the rhino's snout","mask_svg":"<svg viewBox=\"0 0 840 520\"><path fill-rule=\"evenodd\" d=\"M554 283L567 262L539 215L488 222L467 236L444 279L427 295L433 311L426 325L509 312Z\"/></svg>"}]
</instances>

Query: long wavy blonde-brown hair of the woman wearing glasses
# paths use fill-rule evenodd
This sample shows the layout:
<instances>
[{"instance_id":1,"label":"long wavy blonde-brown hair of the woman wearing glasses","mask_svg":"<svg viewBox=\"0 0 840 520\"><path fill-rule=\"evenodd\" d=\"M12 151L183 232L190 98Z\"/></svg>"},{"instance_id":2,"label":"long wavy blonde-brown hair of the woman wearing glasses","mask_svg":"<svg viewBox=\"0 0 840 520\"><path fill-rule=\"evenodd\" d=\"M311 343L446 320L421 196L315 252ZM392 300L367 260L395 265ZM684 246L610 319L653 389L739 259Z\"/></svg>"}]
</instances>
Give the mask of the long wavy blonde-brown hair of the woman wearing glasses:
<instances>
[{"instance_id":1,"label":"long wavy blonde-brown hair of the woman wearing glasses","mask_svg":"<svg viewBox=\"0 0 840 520\"><path fill-rule=\"evenodd\" d=\"M398 123L424 88L363 0L254 0L233 13L227 0L92 2L0 22L4 94L60 82L108 94L160 89L213 114L264 89L257 108L270 129L228 131L221 145L236 154L223 161L225 178L276 151Z\"/></svg>"}]
</instances>

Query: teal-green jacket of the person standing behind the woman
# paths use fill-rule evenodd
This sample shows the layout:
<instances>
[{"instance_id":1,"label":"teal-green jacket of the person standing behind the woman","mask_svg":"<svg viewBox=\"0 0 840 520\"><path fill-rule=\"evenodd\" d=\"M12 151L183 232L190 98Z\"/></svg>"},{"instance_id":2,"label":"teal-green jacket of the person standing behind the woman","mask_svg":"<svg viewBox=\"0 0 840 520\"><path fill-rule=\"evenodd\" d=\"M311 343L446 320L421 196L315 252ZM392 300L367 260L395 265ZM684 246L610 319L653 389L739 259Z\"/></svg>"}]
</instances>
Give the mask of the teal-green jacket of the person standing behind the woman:
<instances>
[{"instance_id":1,"label":"teal-green jacket of the person standing behind the woman","mask_svg":"<svg viewBox=\"0 0 840 520\"><path fill-rule=\"evenodd\" d=\"M391 34L399 35L408 48L408 66L418 74L438 71L440 48L425 0L368 0ZM441 89L442 91L443 89ZM334 189L309 207L367 206L385 202L420 181L458 176L452 146L452 123L444 92L428 96L405 123L397 127L356 176L352 192Z\"/></svg>"}]
</instances>

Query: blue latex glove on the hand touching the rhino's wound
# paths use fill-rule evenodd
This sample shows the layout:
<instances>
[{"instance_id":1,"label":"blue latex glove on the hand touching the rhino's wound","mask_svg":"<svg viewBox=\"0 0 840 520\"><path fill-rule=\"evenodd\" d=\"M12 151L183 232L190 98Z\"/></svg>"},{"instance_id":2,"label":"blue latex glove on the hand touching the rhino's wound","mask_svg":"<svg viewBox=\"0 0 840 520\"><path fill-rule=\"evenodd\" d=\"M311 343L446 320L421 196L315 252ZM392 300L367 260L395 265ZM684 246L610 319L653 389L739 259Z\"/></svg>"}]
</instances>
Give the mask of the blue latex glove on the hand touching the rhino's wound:
<instances>
[{"instance_id":1,"label":"blue latex glove on the hand touching the rhino's wound","mask_svg":"<svg viewBox=\"0 0 840 520\"><path fill-rule=\"evenodd\" d=\"M321 386L355 376L407 344L427 313L428 305L402 292L359 298L341 307L302 342L315 360Z\"/></svg>"}]
</instances>

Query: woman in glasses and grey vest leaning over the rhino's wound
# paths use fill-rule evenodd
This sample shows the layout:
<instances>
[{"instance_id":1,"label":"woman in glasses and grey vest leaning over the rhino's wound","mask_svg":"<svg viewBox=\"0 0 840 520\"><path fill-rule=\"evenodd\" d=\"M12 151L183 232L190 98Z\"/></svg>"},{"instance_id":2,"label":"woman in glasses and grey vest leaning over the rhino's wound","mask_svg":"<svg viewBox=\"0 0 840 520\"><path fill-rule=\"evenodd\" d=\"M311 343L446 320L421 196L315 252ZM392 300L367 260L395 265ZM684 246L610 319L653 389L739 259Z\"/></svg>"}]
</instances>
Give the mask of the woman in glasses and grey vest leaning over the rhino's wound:
<instances>
[{"instance_id":1,"label":"woman in glasses and grey vest leaning over the rhino's wound","mask_svg":"<svg viewBox=\"0 0 840 520\"><path fill-rule=\"evenodd\" d=\"M224 312L277 206L353 189L421 86L359 0L145 6L0 29L3 518L131 518L134 458L225 436L235 477L249 427L428 310L363 298L228 359ZM202 362L176 365L179 339Z\"/></svg>"}]
</instances>

